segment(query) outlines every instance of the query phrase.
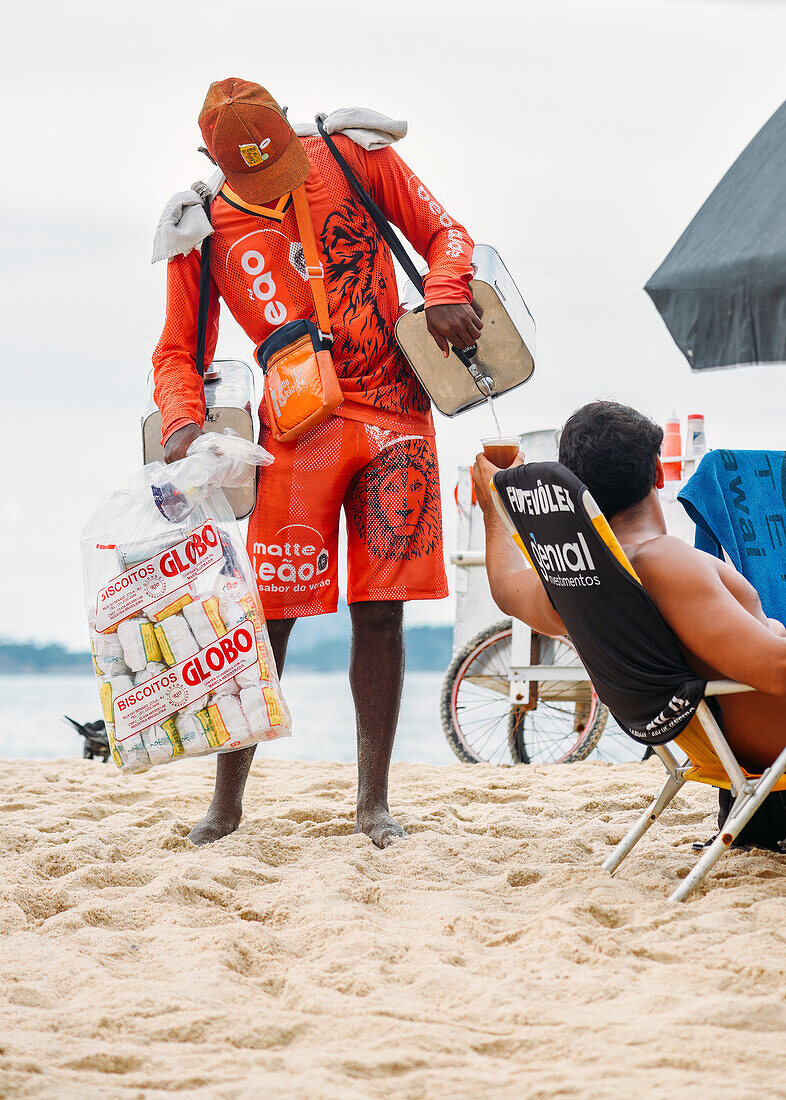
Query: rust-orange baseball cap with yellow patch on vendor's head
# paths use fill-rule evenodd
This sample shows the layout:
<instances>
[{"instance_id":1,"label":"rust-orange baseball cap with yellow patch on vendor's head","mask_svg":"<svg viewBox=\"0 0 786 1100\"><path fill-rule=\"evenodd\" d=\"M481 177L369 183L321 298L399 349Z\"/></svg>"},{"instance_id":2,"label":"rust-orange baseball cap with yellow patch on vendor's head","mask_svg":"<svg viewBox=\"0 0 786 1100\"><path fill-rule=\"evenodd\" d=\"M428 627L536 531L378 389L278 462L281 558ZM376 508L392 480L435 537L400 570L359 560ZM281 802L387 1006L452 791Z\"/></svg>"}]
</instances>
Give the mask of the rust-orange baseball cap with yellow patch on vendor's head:
<instances>
[{"instance_id":1,"label":"rust-orange baseball cap with yellow patch on vendor's head","mask_svg":"<svg viewBox=\"0 0 786 1100\"><path fill-rule=\"evenodd\" d=\"M305 184L311 165L273 96L228 77L210 85L199 114L208 152L245 202L278 199Z\"/></svg>"}]
</instances>

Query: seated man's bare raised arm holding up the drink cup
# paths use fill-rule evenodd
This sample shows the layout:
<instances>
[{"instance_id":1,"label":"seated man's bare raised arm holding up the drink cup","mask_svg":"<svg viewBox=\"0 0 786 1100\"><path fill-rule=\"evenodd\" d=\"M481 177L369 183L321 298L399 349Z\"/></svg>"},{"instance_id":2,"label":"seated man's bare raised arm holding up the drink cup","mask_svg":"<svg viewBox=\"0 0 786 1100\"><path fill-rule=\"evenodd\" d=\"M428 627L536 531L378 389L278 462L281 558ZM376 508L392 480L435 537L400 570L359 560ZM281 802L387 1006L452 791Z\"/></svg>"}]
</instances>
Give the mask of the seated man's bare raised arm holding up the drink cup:
<instances>
[{"instance_id":1,"label":"seated man's bare raised arm holding up the drink cup","mask_svg":"<svg viewBox=\"0 0 786 1100\"><path fill-rule=\"evenodd\" d=\"M523 457L513 465L519 466ZM475 459L473 482L486 526L486 573L494 602L501 612L527 623L539 634L560 637L567 631L552 607L538 573L531 569L502 526L491 501L489 483L498 473L485 454Z\"/></svg>"}]
</instances>

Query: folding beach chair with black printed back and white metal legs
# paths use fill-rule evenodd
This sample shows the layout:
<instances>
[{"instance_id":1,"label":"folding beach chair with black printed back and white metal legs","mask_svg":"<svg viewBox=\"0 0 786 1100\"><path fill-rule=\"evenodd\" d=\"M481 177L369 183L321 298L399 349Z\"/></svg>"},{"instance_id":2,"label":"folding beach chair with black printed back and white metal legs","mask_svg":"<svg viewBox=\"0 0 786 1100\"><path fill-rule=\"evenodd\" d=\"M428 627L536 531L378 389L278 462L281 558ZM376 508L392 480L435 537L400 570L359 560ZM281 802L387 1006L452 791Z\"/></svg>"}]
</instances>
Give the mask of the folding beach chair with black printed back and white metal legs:
<instances>
[{"instance_id":1,"label":"folding beach chair with black printed back and white metal legs","mask_svg":"<svg viewBox=\"0 0 786 1100\"><path fill-rule=\"evenodd\" d=\"M724 787L734 796L718 836L669 899L684 901L764 799L786 789L786 748L761 776L740 767L713 713L715 697L753 689L707 682L690 669L606 517L569 470L558 462L527 463L496 474L492 490L502 522L543 582L599 698L634 740L653 746L668 773L604 869L617 870L688 780Z\"/></svg>"}]
</instances>

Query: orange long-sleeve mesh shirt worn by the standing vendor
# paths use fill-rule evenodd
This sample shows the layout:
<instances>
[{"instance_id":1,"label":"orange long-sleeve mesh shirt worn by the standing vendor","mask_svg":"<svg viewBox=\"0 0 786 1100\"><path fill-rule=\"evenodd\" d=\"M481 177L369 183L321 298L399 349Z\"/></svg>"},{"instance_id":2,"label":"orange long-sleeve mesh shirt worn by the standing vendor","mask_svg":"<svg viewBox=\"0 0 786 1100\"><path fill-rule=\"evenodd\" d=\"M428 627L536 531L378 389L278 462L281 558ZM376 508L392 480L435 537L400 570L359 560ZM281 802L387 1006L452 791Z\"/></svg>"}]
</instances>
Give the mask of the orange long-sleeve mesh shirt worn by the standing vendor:
<instances>
[{"instance_id":1,"label":"orange long-sleeve mesh shirt worn by the standing vendor","mask_svg":"<svg viewBox=\"0 0 786 1100\"><path fill-rule=\"evenodd\" d=\"M394 337L400 308L392 258L321 138L301 138L311 162L306 190L333 324L333 359L345 402L341 416L433 433L428 395ZM376 202L425 257L425 304L469 301L473 241L389 146L367 152L336 135L340 152ZM250 207L226 185L211 205L211 297L204 358L219 332L219 299L255 346L287 321L313 318L290 196ZM153 353L164 441L201 426L204 395L196 370L199 253L167 265L166 321ZM264 408L264 405L263 405Z\"/></svg>"}]
</instances>

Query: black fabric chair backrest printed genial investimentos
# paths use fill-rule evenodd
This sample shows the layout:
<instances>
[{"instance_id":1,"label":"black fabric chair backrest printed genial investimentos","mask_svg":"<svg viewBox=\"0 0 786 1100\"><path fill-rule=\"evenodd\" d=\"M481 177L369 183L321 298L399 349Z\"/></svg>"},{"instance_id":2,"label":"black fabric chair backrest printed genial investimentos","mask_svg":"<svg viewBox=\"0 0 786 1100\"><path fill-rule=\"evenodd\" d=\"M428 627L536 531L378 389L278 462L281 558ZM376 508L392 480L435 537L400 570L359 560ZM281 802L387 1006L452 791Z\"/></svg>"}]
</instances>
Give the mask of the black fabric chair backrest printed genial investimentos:
<instances>
[{"instance_id":1,"label":"black fabric chair backrest printed genial investimentos","mask_svg":"<svg viewBox=\"0 0 786 1100\"><path fill-rule=\"evenodd\" d=\"M600 701L635 740L671 741L707 681L688 666L589 491L558 462L502 470L494 488Z\"/></svg>"}]
</instances>

